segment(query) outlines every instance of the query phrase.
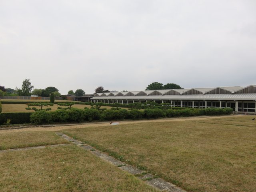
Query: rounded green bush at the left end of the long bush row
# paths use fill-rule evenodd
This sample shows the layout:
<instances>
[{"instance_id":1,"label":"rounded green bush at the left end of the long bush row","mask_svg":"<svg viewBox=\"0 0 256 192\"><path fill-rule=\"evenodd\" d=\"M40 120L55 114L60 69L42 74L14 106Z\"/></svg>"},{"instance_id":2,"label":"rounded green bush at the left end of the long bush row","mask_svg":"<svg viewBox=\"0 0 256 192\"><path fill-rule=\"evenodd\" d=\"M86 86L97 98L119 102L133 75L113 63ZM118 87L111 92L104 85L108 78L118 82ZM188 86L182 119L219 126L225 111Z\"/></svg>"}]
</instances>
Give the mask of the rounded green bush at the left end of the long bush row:
<instances>
[{"instance_id":1,"label":"rounded green bush at the left end of the long bush row","mask_svg":"<svg viewBox=\"0 0 256 192\"><path fill-rule=\"evenodd\" d=\"M35 124L51 123L52 113L47 111L36 111L30 115L30 121Z\"/></svg>"}]
</instances>

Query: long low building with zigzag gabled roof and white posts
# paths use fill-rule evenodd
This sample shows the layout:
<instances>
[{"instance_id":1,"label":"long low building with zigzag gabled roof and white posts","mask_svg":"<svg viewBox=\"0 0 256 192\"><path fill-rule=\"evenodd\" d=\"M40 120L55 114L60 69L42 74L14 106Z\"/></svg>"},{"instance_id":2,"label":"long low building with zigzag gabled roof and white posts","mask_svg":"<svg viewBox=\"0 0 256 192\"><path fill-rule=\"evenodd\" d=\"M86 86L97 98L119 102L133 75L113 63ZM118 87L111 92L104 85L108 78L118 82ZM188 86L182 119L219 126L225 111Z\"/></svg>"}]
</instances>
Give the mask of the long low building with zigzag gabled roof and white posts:
<instances>
[{"instance_id":1,"label":"long low building with zigzag gabled roof and white posts","mask_svg":"<svg viewBox=\"0 0 256 192\"><path fill-rule=\"evenodd\" d=\"M256 112L256 85L97 93L90 100L122 104L154 101L173 107L233 108L237 112Z\"/></svg>"}]
</instances>

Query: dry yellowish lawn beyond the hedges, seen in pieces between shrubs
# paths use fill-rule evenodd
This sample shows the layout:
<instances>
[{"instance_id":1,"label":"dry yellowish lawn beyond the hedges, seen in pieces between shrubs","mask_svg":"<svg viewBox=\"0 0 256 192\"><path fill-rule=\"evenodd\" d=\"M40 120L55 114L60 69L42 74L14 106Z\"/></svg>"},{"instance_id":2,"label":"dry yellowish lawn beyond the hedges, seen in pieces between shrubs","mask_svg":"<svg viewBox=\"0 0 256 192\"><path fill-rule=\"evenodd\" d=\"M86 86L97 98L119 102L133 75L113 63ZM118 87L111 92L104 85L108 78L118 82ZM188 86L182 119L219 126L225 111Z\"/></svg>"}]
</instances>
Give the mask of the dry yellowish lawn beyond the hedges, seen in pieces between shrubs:
<instances>
[{"instance_id":1,"label":"dry yellowish lawn beyond the hedges, seen in pieces between shrubs","mask_svg":"<svg viewBox=\"0 0 256 192\"><path fill-rule=\"evenodd\" d=\"M2 112L3 113L10 113L10 112L34 112L34 110L26 110L26 107L28 107L26 104L2 104ZM34 107L34 106L32 106ZM43 109L45 108L52 108L52 111L55 111L58 109L58 107L63 107L63 106L58 106L56 104L54 104L54 106L44 106ZM78 108L78 109L84 109L85 107L91 108L90 105L79 105L79 104L75 104L72 105L73 108ZM40 108L37 107L36 108ZM107 108L110 109L112 107L110 106L101 106L101 108ZM124 109L128 109L128 108L124 108Z\"/></svg>"}]
</instances>

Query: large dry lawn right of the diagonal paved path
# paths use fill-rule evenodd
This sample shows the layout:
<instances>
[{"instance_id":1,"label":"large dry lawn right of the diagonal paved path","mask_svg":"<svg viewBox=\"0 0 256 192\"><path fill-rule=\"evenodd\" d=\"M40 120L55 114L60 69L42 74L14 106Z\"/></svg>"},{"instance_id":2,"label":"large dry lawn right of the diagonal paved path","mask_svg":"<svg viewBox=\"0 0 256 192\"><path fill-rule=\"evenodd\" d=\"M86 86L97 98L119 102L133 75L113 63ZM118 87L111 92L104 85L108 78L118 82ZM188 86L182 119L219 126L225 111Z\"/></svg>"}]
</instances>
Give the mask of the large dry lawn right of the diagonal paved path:
<instances>
[{"instance_id":1,"label":"large dry lawn right of the diagonal paved path","mask_svg":"<svg viewBox=\"0 0 256 192\"><path fill-rule=\"evenodd\" d=\"M256 189L252 116L148 122L64 132L190 192Z\"/></svg>"}]
</instances>

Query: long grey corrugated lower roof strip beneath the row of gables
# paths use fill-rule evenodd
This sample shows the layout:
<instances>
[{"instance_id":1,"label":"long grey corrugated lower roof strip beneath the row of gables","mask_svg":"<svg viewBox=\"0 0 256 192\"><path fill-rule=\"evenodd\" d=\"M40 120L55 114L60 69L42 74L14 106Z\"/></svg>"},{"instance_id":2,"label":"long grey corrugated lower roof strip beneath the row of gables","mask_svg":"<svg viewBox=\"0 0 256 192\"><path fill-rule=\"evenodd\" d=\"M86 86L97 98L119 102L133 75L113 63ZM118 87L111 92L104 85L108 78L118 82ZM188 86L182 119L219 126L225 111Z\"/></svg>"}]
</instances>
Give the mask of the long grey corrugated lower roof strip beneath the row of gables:
<instances>
[{"instance_id":1,"label":"long grey corrugated lower roof strip beneath the row of gables","mask_svg":"<svg viewBox=\"0 0 256 192\"><path fill-rule=\"evenodd\" d=\"M103 96L95 100L255 100L256 94L156 95L156 96Z\"/></svg>"}]
</instances>

